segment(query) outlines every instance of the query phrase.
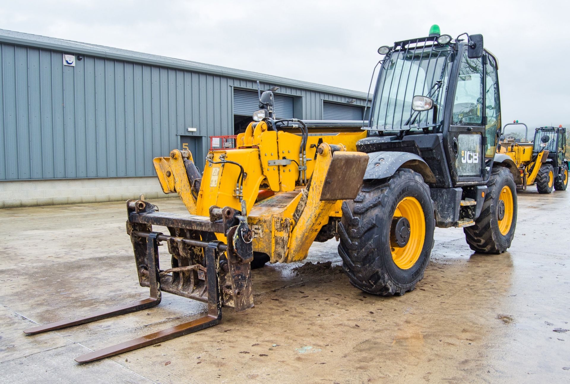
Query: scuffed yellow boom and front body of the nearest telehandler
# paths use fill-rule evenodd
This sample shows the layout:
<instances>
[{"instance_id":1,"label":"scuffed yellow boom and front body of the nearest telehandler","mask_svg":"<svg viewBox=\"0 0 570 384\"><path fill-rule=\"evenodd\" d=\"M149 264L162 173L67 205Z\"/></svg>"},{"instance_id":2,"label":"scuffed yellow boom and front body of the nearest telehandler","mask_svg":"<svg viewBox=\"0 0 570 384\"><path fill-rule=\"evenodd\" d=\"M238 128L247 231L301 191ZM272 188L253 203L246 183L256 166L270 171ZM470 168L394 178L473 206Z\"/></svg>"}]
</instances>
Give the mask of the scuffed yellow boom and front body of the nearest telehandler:
<instances>
[{"instance_id":1,"label":"scuffed yellow boom and front body of the nearest telehandler","mask_svg":"<svg viewBox=\"0 0 570 384\"><path fill-rule=\"evenodd\" d=\"M300 170L301 136L269 129L264 121L251 123L238 135L236 149L208 153L197 195L184 164L193 161L188 151L155 158L154 167L162 190L178 193L190 214L209 216L211 207L226 206L243 211L243 200L254 252L272 263L296 262L307 257L321 228L340 219L343 199L355 198L360 189L368 155L356 152L366 132L355 131L308 136L306 170Z\"/></svg>"}]
</instances>

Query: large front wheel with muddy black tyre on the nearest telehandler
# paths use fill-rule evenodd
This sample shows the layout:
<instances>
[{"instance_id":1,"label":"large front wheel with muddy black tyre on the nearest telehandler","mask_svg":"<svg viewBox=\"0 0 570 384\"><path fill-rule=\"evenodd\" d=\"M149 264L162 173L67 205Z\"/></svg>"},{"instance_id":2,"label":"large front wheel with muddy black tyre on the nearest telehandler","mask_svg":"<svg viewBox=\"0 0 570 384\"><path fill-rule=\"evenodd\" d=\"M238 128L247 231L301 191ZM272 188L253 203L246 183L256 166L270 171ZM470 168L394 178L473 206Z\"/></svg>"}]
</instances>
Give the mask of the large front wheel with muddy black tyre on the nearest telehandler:
<instances>
[{"instance_id":1,"label":"large front wheel with muddy black tyre on the nearest telehandler","mask_svg":"<svg viewBox=\"0 0 570 384\"><path fill-rule=\"evenodd\" d=\"M339 254L351 284L375 295L404 295L424 277L433 247L433 203L424 178L400 169L364 182L343 202Z\"/></svg>"}]
</instances>

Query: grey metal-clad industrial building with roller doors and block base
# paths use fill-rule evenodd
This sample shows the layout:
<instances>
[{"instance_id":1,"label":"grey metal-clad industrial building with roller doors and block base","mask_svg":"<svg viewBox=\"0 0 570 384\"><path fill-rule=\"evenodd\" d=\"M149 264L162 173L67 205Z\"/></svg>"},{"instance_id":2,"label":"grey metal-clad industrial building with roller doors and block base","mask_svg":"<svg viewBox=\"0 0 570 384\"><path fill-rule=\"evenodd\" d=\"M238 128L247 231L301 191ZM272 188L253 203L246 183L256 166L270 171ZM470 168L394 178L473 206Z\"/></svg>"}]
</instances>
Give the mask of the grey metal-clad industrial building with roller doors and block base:
<instances>
[{"instance_id":1,"label":"grey metal-clad industrial building with roller doors and block base","mask_svg":"<svg viewBox=\"0 0 570 384\"><path fill-rule=\"evenodd\" d=\"M152 159L239 132L274 89L276 115L361 120L367 95L0 30L0 208L162 195Z\"/></svg>"}]
</instances>

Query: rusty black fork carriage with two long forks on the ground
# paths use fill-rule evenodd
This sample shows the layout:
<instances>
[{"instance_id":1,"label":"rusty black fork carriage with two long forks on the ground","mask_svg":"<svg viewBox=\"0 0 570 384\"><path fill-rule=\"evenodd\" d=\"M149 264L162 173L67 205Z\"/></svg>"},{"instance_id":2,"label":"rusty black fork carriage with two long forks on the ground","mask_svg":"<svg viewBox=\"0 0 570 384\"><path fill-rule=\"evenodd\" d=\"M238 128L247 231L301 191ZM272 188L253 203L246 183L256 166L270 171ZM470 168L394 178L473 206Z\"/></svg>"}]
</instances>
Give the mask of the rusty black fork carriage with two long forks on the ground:
<instances>
[{"instance_id":1,"label":"rusty black fork carriage with two long forks on the ground","mask_svg":"<svg viewBox=\"0 0 570 384\"><path fill-rule=\"evenodd\" d=\"M209 217L169 214L160 213L149 202L129 200L127 213L127 232L135 251L139 283L150 288L148 299L74 320L36 326L25 330L25 333L47 332L156 307L161 301L161 291L207 303L206 316L75 359L88 362L216 325L222 319L222 305L238 312L253 307L252 233L241 212L231 207L214 207ZM169 234L154 232L153 225L168 227ZM225 235L227 242L217 240L215 233ZM172 267L164 271L158 263L158 245L161 242L168 244L168 251L172 254Z\"/></svg>"}]
</instances>

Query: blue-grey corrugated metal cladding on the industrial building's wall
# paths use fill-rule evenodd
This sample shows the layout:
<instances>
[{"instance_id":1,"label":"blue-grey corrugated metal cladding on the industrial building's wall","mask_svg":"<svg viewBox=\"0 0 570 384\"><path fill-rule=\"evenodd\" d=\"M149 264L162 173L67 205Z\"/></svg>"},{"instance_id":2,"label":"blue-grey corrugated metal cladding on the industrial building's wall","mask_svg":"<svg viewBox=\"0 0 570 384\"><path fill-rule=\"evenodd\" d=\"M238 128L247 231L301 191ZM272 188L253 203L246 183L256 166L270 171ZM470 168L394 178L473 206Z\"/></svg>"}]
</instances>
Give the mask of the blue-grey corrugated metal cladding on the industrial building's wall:
<instances>
[{"instance_id":1,"label":"blue-grey corrugated metal cladding on the industrial building's wall","mask_svg":"<svg viewBox=\"0 0 570 384\"><path fill-rule=\"evenodd\" d=\"M178 148L177 135L203 137L207 153L208 136L233 134L234 87L257 92L253 79L213 74L238 70L8 32L0 30L0 180L152 176L152 158ZM64 66L63 53L83 59ZM322 100L345 103L347 93L365 103L362 92L259 76L262 89L299 96L303 119L321 119Z\"/></svg>"}]
</instances>

